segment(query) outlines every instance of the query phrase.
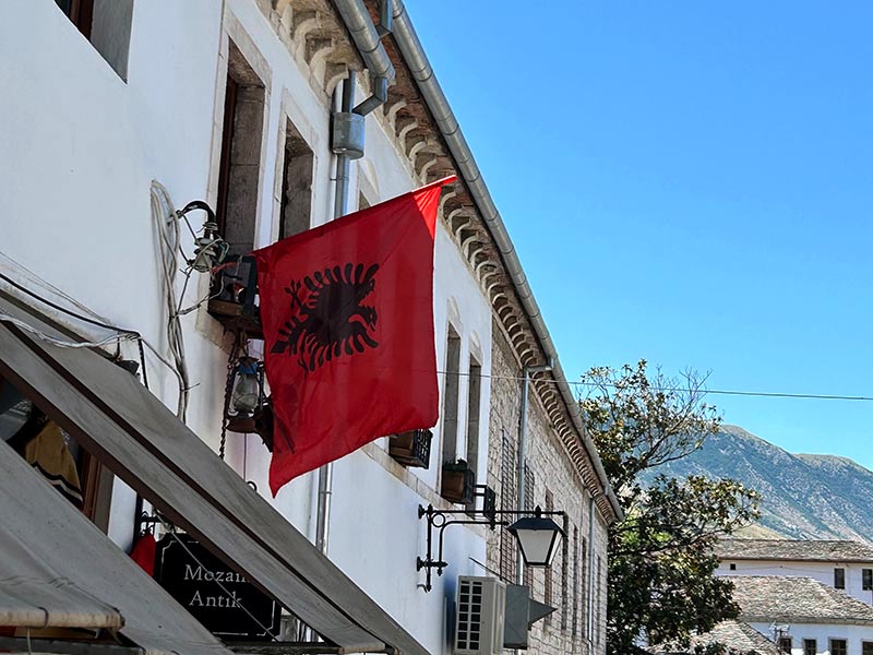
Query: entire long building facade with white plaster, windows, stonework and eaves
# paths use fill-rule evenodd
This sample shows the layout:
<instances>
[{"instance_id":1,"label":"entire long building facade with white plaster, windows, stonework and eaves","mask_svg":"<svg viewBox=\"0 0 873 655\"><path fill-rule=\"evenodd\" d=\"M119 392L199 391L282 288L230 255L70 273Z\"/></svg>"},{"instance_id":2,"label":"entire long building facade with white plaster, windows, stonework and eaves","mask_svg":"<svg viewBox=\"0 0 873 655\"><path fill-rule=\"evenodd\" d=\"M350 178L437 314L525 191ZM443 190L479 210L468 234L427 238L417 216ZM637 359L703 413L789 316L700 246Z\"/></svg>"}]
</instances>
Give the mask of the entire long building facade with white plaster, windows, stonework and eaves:
<instances>
[{"instance_id":1,"label":"entire long building facade with white plaster, windows, stonework and eaves","mask_svg":"<svg viewBox=\"0 0 873 655\"><path fill-rule=\"evenodd\" d=\"M368 20L379 15L378 3L327 0L3 3L0 80L14 94L0 104L0 289L77 338L106 342L108 355L144 364L140 379L146 381L144 369L150 393L175 410L179 362L167 330L156 227L166 216L155 205L154 182L175 209L192 200L215 207L237 254L331 219L338 90L358 71L357 102L380 94L381 83L363 73L371 53L356 40L348 13L355 7ZM481 526L454 527L443 553L450 568L424 592L416 557L424 555L427 531L418 508L463 509L445 497L440 464L446 460L465 460L478 483L499 487L495 420L509 425L512 412L502 407L516 401L497 393L516 398L519 385L513 380L512 389L495 392L495 376L512 379L524 367L552 361L552 371L531 384L531 430L541 434L531 438L538 445L530 461L539 479L554 467L555 484L548 492L535 487L531 498L567 512L567 546L562 568L536 573L534 588L535 597L570 607L558 627L536 629L552 634L543 632L531 648L602 653L606 534L620 510L575 422L572 395L557 394L548 382L562 378L548 332L531 318L538 317L535 301L471 156L452 141L459 132L451 109L424 93L433 82L420 80L428 78L421 74L427 58L408 15L399 2L392 11L394 35L383 51L395 75L364 119L366 150L349 166L347 204L354 211L459 175L444 193L435 238L435 352L443 374L430 465L400 464L384 437L334 464L328 495L313 472L271 498L261 438L223 438L228 358L238 335L207 311L202 300L212 293L210 279L199 273L190 281L175 274L168 283L177 307L193 308L178 320L183 345L176 353L188 371L184 424L310 541L319 540L330 498L321 534L330 561L423 651L450 653L455 581L489 574L483 565L495 561L494 537ZM196 216L190 215L195 229ZM193 257L184 231L180 246ZM154 350L141 355L142 342L125 338L112 353L116 329L135 332ZM247 345L254 356L263 348L256 338ZM93 491L104 498L94 501L92 519L128 550L140 505L121 477L97 475L111 489ZM583 591L574 596L576 587Z\"/></svg>"}]
</instances>

